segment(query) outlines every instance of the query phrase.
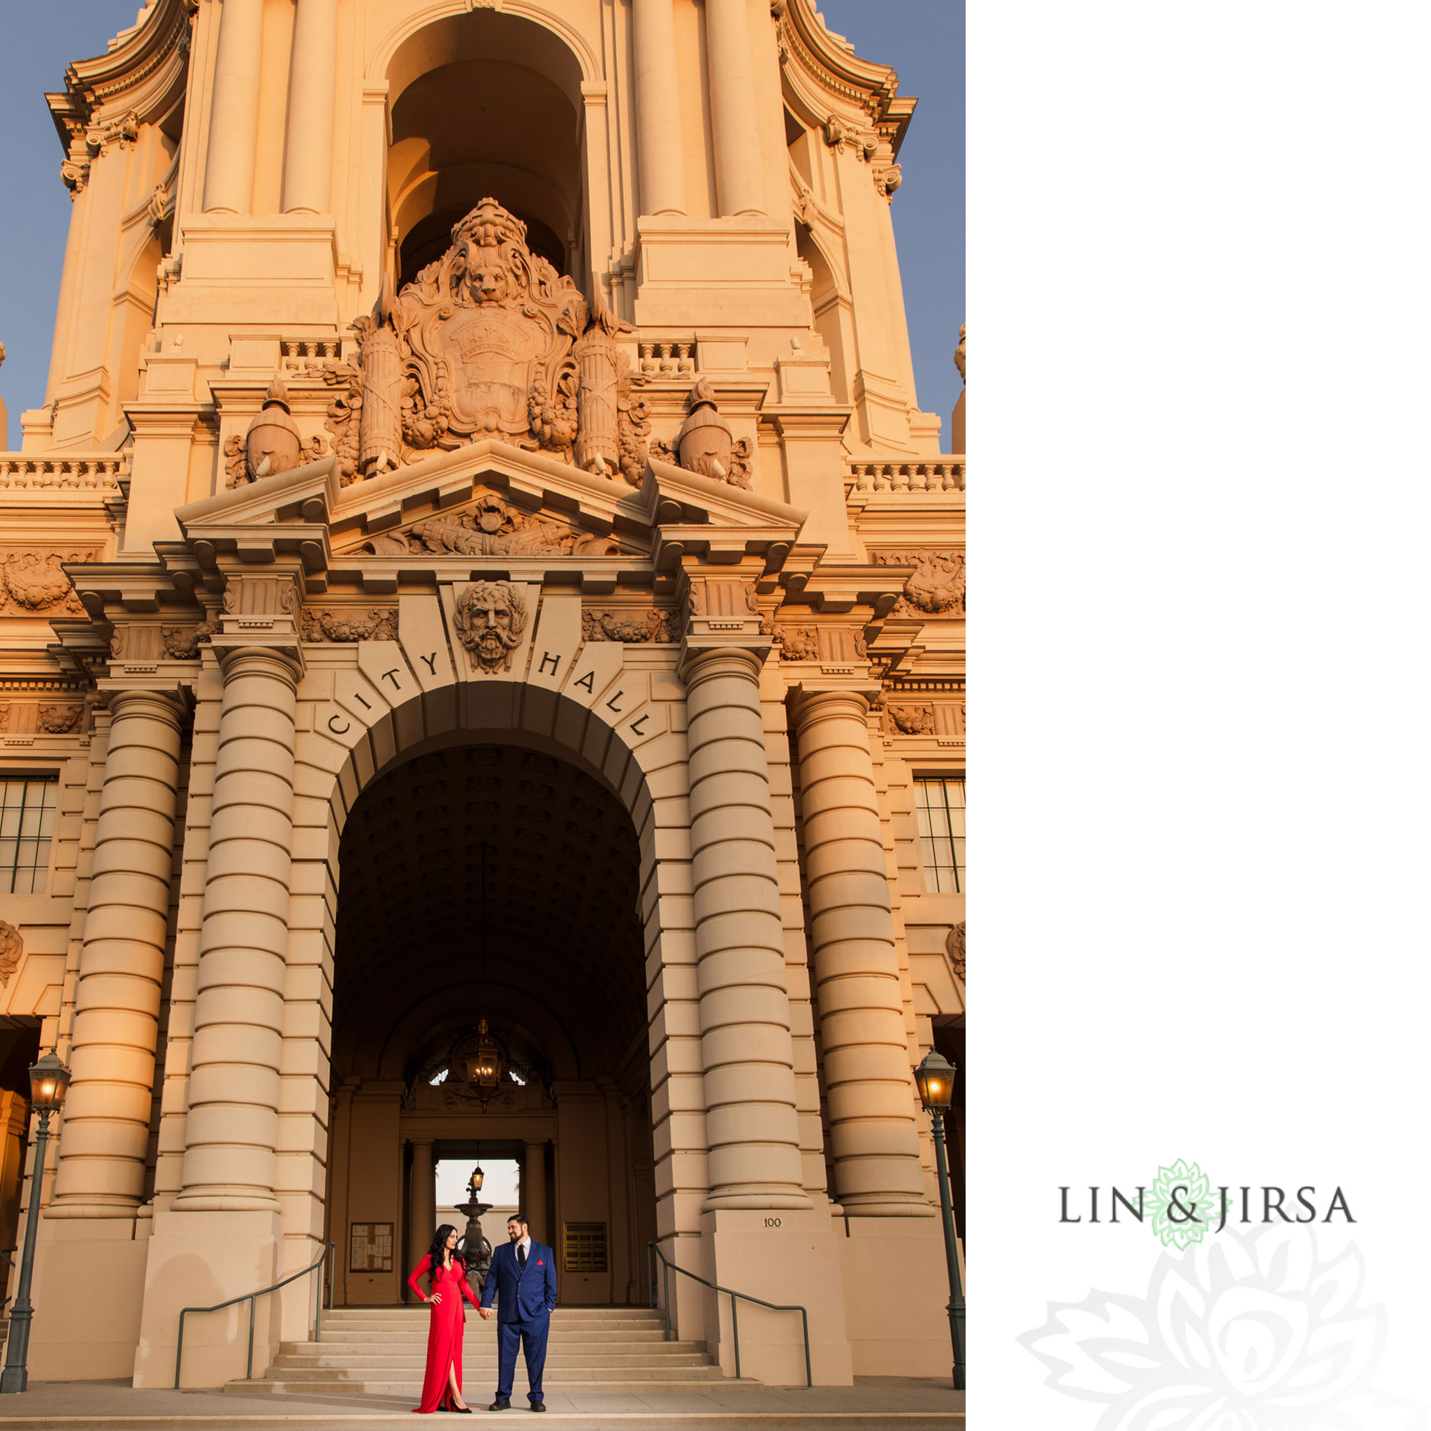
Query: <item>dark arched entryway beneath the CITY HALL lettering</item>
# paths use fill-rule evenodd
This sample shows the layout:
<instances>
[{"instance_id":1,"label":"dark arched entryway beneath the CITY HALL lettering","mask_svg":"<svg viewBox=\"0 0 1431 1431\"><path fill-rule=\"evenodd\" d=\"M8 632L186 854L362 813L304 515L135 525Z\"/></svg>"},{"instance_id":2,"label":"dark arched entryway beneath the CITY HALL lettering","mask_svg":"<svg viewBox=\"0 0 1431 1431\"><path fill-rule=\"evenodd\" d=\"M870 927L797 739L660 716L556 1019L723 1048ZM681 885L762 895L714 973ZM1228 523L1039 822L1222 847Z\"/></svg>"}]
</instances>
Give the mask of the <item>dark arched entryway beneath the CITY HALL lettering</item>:
<instances>
[{"instance_id":1,"label":"dark arched entryway beneath the CITY HALL lettering","mask_svg":"<svg viewBox=\"0 0 1431 1431\"><path fill-rule=\"evenodd\" d=\"M432 743L428 743L432 744ZM560 756L455 734L358 797L338 851L329 1236L349 1305L404 1298L442 1159L515 1159L564 1302L645 1299L655 1235L640 850ZM501 1080L472 1073L482 1020Z\"/></svg>"}]
</instances>

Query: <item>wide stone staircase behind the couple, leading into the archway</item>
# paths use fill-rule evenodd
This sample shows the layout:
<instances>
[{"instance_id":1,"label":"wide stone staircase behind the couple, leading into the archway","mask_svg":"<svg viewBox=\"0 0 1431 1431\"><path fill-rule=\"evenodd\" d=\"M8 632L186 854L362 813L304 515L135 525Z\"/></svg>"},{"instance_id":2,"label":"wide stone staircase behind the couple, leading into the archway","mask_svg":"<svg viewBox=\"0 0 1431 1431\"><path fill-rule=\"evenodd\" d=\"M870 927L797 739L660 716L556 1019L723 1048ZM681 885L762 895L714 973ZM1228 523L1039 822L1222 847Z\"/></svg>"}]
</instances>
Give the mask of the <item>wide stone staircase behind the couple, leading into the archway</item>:
<instances>
[{"instance_id":1,"label":"wide stone staircase behind the couple, leading into the archway","mask_svg":"<svg viewBox=\"0 0 1431 1431\"><path fill-rule=\"evenodd\" d=\"M253 1394L388 1395L422 1391L426 1365L425 1307L348 1307L323 1312L318 1342L283 1342L263 1377L225 1390ZM721 1382L720 1367L695 1342L665 1341L658 1311L644 1307L558 1307L551 1317L547 1395L574 1392L684 1391ZM467 1309L462 1385L471 1405L497 1390L497 1321ZM728 1385L728 1382L727 1382ZM527 1369L517 1357L514 1404L527 1400Z\"/></svg>"}]
</instances>

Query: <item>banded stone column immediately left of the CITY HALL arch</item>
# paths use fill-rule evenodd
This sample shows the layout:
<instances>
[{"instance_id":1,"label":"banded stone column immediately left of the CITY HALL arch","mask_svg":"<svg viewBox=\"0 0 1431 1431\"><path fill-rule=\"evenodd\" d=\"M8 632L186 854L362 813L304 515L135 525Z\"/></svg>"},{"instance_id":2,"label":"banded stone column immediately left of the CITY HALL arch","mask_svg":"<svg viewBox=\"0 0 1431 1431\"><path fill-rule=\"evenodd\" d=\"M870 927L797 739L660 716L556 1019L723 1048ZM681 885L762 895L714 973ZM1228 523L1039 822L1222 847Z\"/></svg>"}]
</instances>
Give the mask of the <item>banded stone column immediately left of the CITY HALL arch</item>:
<instances>
[{"instance_id":1,"label":"banded stone column immediately left of the CITY HALL arch","mask_svg":"<svg viewBox=\"0 0 1431 1431\"><path fill-rule=\"evenodd\" d=\"M276 1211L298 673L225 651L199 929L183 1191L175 1211Z\"/></svg>"}]
</instances>

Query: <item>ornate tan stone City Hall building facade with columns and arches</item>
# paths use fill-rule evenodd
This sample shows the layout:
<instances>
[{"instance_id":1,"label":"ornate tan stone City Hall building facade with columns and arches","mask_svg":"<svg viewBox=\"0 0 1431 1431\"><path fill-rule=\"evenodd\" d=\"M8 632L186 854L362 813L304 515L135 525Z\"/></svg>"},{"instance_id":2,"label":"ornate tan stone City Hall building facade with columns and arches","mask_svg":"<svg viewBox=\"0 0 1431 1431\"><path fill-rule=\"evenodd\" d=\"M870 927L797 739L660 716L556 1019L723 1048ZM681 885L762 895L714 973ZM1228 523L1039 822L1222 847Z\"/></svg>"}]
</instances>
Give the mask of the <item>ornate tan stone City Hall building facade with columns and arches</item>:
<instances>
[{"instance_id":1,"label":"ornate tan stone City Hall building facade with columns and arches","mask_svg":"<svg viewBox=\"0 0 1431 1431\"><path fill-rule=\"evenodd\" d=\"M9 1246L24 1069L73 1073L31 1377L170 1385L180 1308L329 1241L395 1307L478 1158L562 1305L647 1305L655 1241L806 1307L819 1384L947 1375L912 1070L963 1049L964 459L890 222L914 100L811 0L150 0L49 104L0 454ZM246 1332L190 1319L185 1384ZM740 1341L804 1381L798 1318Z\"/></svg>"}]
</instances>

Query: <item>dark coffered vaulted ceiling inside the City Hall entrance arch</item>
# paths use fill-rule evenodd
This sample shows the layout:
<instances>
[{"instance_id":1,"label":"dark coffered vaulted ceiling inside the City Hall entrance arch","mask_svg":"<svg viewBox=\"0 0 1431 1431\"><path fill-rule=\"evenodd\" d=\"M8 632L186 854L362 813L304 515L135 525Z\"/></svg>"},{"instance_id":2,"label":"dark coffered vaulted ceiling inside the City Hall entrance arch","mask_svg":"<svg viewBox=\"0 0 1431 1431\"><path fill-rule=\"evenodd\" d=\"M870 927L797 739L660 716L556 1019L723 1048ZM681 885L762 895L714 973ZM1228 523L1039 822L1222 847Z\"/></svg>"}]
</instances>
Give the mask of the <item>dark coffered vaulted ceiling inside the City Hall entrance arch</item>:
<instances>
[{"instance_id":1,"label":"dark coffered vaulted ceiling inside the City Hall entrance arch","mask_svg":"<svg viewBox=\"0 0 1431 1431\"><path fill-rule=\"evenodd\" d=\"M645 1029L638 887L630 816L555 756L462 746L379 776L339 841L335 1070L394 1076L485 1015L558 1076L610 1072Z\"/></svg>"}]
</instances>

